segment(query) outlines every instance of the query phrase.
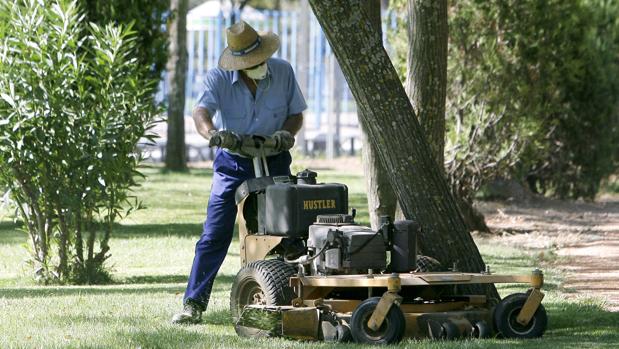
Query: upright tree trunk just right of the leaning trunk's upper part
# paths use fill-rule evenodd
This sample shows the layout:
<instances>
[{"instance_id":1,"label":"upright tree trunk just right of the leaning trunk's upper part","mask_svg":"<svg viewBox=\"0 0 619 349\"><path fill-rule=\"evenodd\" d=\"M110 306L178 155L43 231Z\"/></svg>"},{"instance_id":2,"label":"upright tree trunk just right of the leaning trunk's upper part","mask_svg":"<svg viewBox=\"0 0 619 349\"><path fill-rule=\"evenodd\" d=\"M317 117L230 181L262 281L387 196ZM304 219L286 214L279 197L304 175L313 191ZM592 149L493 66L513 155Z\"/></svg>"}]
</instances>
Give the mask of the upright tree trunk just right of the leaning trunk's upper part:
<instances>
[{"instance_id":1,"label":"upright tree trunk just right of the leaning trunk's upper part","mask_svg":"<svg viewBox=\"0 0 619 349\"><path fill-rule=\"evenodd\" d=\"M447 0L408 0L406 94L441 169L445 150L447 37Z\"/></svg>"}]
</instances>

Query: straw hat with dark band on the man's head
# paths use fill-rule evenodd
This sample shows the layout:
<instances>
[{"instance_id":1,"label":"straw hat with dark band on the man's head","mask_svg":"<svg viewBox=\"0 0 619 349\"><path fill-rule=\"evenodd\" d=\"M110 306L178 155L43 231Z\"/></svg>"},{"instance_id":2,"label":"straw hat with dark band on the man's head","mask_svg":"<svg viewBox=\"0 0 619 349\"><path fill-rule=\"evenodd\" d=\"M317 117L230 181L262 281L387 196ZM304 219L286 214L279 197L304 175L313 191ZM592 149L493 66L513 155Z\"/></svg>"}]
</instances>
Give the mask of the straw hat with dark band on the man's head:
<instances>
[{"instance_id":1,"label":"straw hat with dark band on the man's head","mask_svg":"<svg viewBox=\"0 0 619 349\"><path fill-rule=\"evenodd\" d=\"M272 32L256 33L244 21L226 29L228 47L219 56L219 67L224 70L242 70L260 64L279 49L279 36Z\"/></svg>"}]
</instances>

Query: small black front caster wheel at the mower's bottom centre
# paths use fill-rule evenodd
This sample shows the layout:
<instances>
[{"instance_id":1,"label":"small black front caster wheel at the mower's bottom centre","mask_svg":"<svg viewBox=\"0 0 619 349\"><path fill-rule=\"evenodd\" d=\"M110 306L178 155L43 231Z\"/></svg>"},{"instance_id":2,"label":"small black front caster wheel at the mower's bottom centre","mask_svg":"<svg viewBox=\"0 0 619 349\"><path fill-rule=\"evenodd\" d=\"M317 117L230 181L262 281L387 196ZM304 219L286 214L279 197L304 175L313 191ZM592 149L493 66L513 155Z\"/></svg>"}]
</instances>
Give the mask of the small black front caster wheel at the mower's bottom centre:
<instances>
[{"instance_id":1,"label":"small black front caster wheel at the mower's bottom centre","mask_svg":"<svg viewBox=\"0 0 619 349\"><path fill-rule=\"evenodd\" d=\"M380 297L368 298L355 308L350 319L350 332L357 343L393 344L402 340L406 320L397 304L391 306L378 331L368 327L368 321L376 309Z\"/></svg>"}]
</instances>

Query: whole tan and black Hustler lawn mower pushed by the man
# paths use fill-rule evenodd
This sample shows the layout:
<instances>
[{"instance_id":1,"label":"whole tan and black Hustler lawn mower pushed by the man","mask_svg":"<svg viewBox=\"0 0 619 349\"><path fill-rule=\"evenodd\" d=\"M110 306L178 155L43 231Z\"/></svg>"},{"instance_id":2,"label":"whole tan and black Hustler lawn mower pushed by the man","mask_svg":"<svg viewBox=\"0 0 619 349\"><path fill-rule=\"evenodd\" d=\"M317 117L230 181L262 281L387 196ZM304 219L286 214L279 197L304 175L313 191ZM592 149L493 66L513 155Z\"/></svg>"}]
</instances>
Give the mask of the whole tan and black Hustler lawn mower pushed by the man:
<instances>
[{"instance_id":1,"label":"whole tan and black Hustler lawn mower pushed by the man","mask_svg":"<svg viewBox=\"0 0 619 349\"><path fill-rule=\"evenodd\" d=\"M256 178L236 191L242 268L231 289L235 330L244 337L390 344L403 338L535 338L547 316L543 274L432 271L417 255L416 222L355 222L348 189L317 173L270 176L269 137L244 136L236 152ZM436 266L436 264L433 264ZM502 300L463 295L463 285L524 283Z\"/></svg>"}]
</instances>

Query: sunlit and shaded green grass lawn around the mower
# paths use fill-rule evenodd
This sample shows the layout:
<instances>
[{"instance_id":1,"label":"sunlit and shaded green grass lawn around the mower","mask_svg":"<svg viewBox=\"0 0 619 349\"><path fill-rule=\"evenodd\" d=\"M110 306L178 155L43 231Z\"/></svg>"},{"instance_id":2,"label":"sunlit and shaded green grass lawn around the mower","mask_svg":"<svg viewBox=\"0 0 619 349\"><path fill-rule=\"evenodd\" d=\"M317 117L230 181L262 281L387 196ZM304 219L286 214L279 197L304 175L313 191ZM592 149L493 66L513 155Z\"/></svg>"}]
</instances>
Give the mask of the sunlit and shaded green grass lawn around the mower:
<instances>
[{"instance_id":1,"label":"sunlit and shaded green grass lawn around the mower","mask_svg":"<svg viewBox=\"0 0 619 349\"><path fill-rule=\"evenodd\" d=\"M236 336L228 301L239 269L234 242L217 277L204 324L173 326L201 232L211 184L209 170L162 174L147 168L136 194L146 209L118 225L111 241L109 266L115 283L104 286L37 286L30 278L26 235L10 215L0 221L0 348L335 348L327 343L284 339L249 340ZM350 188L351 206L367 222L363 178L322 171L322 181ZM0 217L2 217L0 215ZM528 273L540 264L536 252L481 245L496 272ZM583 348L617 347L619 314L605 312L592 299L568 301L562 275L545 266L544 305L549 328L541 340L405 341L402 348ZM505 295L523 291L501 286Z\"/></svg>"}]
</instances>

